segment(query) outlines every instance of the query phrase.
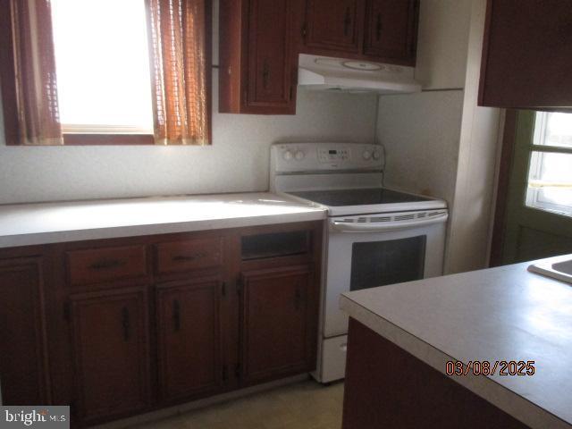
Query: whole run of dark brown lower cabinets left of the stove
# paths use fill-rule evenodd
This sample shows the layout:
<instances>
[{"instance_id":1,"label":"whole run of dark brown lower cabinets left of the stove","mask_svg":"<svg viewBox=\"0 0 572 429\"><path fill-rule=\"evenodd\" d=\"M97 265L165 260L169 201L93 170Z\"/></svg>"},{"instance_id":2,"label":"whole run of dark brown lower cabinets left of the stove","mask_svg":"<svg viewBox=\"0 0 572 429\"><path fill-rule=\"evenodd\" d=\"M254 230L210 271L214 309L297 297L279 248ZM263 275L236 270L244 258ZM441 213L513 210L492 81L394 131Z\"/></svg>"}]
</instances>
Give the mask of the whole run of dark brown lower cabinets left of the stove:
<instances>
[{"instance_id":1,"label":"whole run of dark brown lower cabinets left of the stove","mask_svg":"<svg viewBox=\"0 0 572 429\"><path fill-rule=\"evenodd\" d=\"M4 404L85 427L312 371L323 226L0 249Z\"/></svg>"}]
</instances>

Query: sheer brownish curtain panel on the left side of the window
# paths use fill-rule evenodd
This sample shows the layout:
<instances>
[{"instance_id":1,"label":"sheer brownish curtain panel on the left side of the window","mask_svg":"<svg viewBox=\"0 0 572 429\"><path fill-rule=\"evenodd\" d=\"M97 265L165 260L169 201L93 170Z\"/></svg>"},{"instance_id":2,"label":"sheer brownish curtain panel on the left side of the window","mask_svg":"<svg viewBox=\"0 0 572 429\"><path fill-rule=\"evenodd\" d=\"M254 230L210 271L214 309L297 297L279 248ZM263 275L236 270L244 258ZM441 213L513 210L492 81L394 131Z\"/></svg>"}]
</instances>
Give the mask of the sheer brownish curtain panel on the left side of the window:
<instances>
[{"instance_id":1,"label":"sheer brownish curtain panel on the left side of the window","mask_svg":"<svg viewBox=\"0 0 572 429\"><path fill-rule=\"evenodd\" d=\"M49 0L12 0L21 145L63 145Z\"/></svg>"}]
</instances>

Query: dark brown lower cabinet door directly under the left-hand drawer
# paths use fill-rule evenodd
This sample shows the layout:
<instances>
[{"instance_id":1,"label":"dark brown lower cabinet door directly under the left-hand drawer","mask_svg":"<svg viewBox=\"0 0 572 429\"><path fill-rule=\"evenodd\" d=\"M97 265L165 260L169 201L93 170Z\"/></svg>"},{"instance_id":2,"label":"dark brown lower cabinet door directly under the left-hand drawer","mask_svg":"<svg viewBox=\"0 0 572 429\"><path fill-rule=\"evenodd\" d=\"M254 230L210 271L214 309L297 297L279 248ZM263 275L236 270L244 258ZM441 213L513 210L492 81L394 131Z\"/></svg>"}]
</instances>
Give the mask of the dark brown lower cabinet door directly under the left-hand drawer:
<instances>
[{"instance_id":1,"label":"dark brown lower cabinet door directly under the left-hand drawer","mask_svg":"<svg viewBox=\"0 0 572 429\"><path fill-rule=\"evenodd\" d=\"M76 413L84 423L147 407L145 288L71 297Z\"/></svg>"}]
</instances>

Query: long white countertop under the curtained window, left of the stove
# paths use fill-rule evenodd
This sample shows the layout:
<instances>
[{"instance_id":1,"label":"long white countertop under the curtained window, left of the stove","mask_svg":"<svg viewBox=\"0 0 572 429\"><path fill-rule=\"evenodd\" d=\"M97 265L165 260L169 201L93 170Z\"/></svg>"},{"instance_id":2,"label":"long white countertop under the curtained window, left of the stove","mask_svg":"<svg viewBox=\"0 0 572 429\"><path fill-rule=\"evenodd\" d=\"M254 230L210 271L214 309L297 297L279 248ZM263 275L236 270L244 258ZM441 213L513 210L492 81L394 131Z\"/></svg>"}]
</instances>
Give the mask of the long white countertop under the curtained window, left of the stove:
<instances>
[{"instance_id":1,"label":"long white countertop under the curtained window, left of the stove","mask_svg":"<svg viewBox=\"0 0 572 429\"><path fill-rule=\"evenodd\" d=\"M325 209L267 192L0 206L0 248L322 220Z\"/></svg>"}]
</instances>

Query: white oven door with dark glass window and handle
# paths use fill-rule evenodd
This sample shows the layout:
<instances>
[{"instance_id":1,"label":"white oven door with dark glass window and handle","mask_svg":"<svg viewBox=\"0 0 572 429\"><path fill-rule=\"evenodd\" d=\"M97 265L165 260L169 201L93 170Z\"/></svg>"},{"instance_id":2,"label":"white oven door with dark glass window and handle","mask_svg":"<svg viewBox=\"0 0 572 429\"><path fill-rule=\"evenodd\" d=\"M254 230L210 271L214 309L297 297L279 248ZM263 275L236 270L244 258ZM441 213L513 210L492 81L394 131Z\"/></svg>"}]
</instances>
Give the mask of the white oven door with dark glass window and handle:
<instances>
[{"instance_id":1,"label":"white oven door with dark glass window and handle","mask_svg":"<svg viewBox=\"0 0 572 429\"><path fill-rule=\"evenodd\" d=\"M324 337L348 332L340 294L442 275L446 209L329 220Z\"/></svg>"}]
</instances>

